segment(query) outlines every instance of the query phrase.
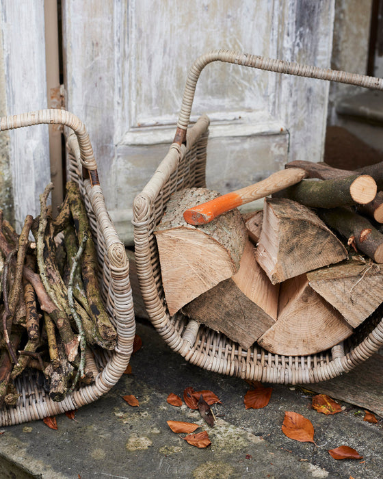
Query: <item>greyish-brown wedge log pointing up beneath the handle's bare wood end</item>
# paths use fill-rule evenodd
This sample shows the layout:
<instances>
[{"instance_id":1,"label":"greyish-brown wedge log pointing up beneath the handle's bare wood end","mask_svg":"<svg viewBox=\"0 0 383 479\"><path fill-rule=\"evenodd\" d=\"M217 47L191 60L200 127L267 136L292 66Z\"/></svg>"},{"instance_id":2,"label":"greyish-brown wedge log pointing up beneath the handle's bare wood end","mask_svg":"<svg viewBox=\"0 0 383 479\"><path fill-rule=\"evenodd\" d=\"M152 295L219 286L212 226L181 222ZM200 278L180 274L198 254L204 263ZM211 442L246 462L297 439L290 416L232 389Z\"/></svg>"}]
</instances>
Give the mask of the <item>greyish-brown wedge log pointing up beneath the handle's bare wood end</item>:
<instances>
[{"instance_id":1,"label":"greyish-brown wedge log pointing up beneath the handle's bare wood end","mask_svg":"<svg viewBox=\"0 0 383 479\"><path fill-rule=\"evenodd\" d=\"M347 250L311 209L286 198L266 198L256 261L273 284L338 263Z\"/></svg>"}]
</instances>

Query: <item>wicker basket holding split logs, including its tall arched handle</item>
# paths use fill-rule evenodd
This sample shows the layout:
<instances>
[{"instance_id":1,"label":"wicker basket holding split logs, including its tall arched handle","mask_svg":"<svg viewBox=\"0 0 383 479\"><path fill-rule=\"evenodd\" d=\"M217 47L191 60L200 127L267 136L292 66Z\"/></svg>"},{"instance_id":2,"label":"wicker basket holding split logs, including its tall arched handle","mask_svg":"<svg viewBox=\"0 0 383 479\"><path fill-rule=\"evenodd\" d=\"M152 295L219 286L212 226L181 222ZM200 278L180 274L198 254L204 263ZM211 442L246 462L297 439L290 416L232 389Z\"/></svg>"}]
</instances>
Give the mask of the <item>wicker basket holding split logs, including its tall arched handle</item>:
<instances>
[{"instance_id":1,"label":"wicker basket holding split logs, including its tall arched handle","mask_svg":"<svg viewBox=\"0 0 383 479\"><path fill-rule=\"evenodd\" d=\"M243 350L225 335L188 320L181 313L170 317L166 308L153 230L161 221L172 193L185 187L205 187L209 119L202 116L193 127L187 127L198 77L202 68L214 61L378 90L383 90L383 79L233 51L216 50L202 55L189 70L174 143L134 200L135 258L142 297L150 321L173 350L207 370L267 383L304 384L333 378L352 370L382 346L382 311L376 311L354 331L352 337L331 350L310 356L287 357L269 353L256 343Z\"/></svg>"}]
</instances>

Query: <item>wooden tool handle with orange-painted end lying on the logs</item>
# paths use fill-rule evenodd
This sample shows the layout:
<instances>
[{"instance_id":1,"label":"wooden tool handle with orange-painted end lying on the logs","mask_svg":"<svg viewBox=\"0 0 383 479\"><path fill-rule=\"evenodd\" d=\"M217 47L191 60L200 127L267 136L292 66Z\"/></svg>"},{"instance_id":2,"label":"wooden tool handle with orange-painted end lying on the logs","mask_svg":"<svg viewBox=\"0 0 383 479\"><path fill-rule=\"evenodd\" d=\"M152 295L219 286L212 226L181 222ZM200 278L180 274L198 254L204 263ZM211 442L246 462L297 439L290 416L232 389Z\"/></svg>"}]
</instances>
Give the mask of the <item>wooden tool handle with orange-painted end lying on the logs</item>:
<instances>
[{"instance_id":1,"label":"wooden tool handle with orange-painted end lying on the logs","mask_svg":"<svg viewBox=\"0 0 383 479\"><path fill-rule=\"evenodd\" d=\"M259 183L254 183L254 185L246 186L241 190L218 196L218 198L207 201L207 203L189 208L184 211L183 218L189 224L207 224L220 214L230 211L230 209L246 205L246 203L259 198L265 198L269 194L299 183L306 177L307 173L302 168L280 170L259 181Z\"/></svg>"}]
</instances>

